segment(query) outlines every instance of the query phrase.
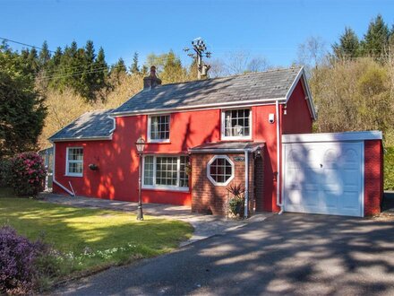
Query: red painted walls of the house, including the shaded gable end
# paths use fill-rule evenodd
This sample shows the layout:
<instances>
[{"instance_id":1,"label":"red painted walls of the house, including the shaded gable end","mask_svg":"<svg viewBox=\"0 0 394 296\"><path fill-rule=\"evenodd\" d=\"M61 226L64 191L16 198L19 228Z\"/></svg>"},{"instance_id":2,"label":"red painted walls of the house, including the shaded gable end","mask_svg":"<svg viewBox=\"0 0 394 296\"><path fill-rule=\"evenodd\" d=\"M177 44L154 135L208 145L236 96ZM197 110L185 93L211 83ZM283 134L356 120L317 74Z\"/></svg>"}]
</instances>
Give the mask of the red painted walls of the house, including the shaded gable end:
<instances>
[{"instance_id":1,"label":"red painted walls of the house, including the shaded gable end","mask_svg":"<svg viewBox=\"0 0 394 296\"><path fill-rule=\"evenodd\" d=\"M276 205L276 123L269 123L270 113L275 114L275 105L252 108L252 140L266 143L263 207L257 210L278 211ZM305 120L304 117L308 119ZM140 135L147 138L147 118L147 116L116 118L116 130L112 141L57 143L56 180L65 187L69 187L69 181L71 181L73 189L80 196L137 201L139 160L135 151L135 142ZM287 123L290 119L291 123ZM283 116L282 120L286 126L281 132L290 132L290 128L293 133L311 132L312 120L310 120L301 85L295 87L287 104L287 115ZM178 112L171 114L170 143L147 144L145 153L187 153L190 147L218 141L220 141L220 109ZM84 147L83 177L64 175L67 146ZM90 163L98 164L99 170L89 170ZM54 191L64 193L63 189L56 186L54 186ZM191 205L190 192L143 189L142 199L144 203Z\"/></svg>"}]
</instances>

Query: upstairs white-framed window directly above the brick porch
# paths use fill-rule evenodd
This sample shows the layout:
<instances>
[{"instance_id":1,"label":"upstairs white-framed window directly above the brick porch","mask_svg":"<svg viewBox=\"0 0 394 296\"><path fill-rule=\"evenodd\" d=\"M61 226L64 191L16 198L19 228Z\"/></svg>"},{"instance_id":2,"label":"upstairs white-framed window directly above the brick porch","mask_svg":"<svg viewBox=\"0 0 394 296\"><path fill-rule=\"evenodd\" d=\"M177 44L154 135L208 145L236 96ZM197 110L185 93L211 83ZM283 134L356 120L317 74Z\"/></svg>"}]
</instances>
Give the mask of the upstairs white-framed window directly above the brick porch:
<instances>
[{"instance_id":1,"label":"upstairs white-framed window directly above the brick porch","mask_svg":"<svg viewBox=\"0 0 394 296\"><path fill-rule=\"evenodd\" d=\"M238 140L252 138L252 110L225 109L221 112L222 139Z\"/></svg>"}]
</instances>

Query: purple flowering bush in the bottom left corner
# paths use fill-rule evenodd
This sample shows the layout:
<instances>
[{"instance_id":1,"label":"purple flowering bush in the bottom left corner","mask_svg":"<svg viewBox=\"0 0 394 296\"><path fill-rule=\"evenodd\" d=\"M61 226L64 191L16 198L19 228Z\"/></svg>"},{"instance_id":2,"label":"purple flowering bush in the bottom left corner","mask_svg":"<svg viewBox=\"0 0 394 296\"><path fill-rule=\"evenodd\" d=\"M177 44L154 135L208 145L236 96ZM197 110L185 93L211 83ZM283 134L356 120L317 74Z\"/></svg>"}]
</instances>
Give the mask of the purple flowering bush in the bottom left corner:
<instances>
[{"instance_id":1,"label":"purple flowering bush in the bottom left corner","mask_svg":"<svg viewBox=\"0 0 394 296\"><path fill-rule=\"evenodd\" d=\"M11 227L0 228L0 294L32 291L38 278L34 262L42 246L18 235Z\"/></svg>"}]
</instances>

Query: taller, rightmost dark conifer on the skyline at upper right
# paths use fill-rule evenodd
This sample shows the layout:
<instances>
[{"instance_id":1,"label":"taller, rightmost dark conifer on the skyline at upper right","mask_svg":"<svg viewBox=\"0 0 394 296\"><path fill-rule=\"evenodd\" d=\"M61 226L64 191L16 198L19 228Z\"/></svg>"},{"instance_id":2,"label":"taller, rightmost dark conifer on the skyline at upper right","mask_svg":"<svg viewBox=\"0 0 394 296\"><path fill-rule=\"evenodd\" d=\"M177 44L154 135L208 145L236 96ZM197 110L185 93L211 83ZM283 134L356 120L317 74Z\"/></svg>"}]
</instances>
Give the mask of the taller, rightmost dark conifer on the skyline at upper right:
<instances>
[{"instance_id":1,"label":"taller, rightmost dark conifer on the skyline at upper right","mask_svg":"<svg viewBox=\"0 0 394 296\"><path fill-rule=\"evenodd\" d=\"M380 59L384 49L389 44L390 30L383 21L381 14L378 14L373 21L370 22L368 30L362 41L364 54Z\"/></svg>"}]
</instances>

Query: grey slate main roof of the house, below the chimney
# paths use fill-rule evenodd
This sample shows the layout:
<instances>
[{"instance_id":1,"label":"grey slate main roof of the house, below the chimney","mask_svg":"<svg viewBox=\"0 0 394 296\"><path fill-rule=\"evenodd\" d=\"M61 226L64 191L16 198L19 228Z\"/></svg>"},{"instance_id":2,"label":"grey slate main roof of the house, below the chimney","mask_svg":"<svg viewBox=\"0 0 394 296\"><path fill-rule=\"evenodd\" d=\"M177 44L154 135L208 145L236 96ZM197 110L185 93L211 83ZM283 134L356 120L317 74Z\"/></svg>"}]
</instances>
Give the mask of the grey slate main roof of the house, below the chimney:
<instances>
[{"instance_id":1,"label":"grey slate main roof of the house, below the chimney","mask_svg":"<svg viewBox=\"0 0 394 296\"><path fill-rule=\"evenodd\" d=\"M114 115L160 109L187 109L247 100L284 99L301 69L294 67L188 83L158 85L134 95L117 108Z\"/></svg>"}]
</instances>

